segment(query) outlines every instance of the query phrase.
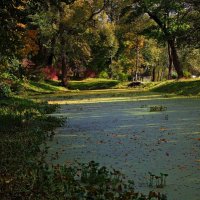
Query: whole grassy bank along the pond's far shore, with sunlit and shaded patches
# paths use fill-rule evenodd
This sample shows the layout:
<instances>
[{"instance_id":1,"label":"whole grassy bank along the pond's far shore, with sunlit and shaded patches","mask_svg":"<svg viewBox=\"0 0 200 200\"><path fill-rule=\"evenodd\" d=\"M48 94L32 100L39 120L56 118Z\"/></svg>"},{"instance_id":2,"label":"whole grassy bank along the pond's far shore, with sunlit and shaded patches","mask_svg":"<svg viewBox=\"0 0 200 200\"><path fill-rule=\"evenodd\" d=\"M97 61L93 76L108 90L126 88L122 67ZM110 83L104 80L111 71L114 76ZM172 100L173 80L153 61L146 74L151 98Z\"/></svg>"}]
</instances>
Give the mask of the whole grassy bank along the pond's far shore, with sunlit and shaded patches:
<instances>
[{"instance_id":1,"label":"whole grassy bank along the pond's far shore, with sunlit and shaded patches","mask_svg":"<svg viewBox=\"0 0 200 200\"><path fill-rule=\"evenodd\" d=\"M58 82L30 82L24 84L27 94L65 93L70 90L101 90L121 88L127 89L128 83L120 83L108 79L86 79L83 81L70 81L68 89L59 86ZM130 88L131 89L131 88ZM135 91L152 91L161 93L173 93L177 95L200 95L200 79L173 80L163 82L144 83L140 87L132 88Z\"/></svg>"}]
</instances>

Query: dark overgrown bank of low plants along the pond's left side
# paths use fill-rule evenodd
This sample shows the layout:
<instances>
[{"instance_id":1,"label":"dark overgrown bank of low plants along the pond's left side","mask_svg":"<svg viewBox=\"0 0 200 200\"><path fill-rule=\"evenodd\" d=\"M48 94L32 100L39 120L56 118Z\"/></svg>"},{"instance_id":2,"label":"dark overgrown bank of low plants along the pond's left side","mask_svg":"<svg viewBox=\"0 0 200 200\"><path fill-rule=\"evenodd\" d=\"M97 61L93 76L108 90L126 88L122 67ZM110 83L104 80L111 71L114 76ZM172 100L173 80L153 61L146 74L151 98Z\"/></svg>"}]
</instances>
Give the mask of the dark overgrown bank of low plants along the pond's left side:
<instances>
[{"instance_id":1,"label":"dark overgrown bank of low plants along the pond's left side","mask_svg":"<svg viewBox=\"0 0 200 200\"><path fill-rule=\"evenodd\" d=\"M56 106L19 97L0 100L0 197L28 199L43 167L40 148L61 124L47 116ZM36 199L36 198L35 198Z\"/></svg>"}]
</instances>

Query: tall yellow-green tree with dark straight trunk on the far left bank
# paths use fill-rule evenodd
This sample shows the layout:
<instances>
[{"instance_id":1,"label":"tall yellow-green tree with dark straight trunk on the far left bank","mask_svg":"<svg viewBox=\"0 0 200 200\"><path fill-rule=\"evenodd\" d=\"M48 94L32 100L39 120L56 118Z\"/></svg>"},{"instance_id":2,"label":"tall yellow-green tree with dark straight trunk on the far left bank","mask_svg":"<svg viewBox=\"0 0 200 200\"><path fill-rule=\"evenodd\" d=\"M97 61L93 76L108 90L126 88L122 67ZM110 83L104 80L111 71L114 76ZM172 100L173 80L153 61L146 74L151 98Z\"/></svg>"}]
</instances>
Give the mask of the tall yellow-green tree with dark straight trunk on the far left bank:
<instances>
[{"instance_id":1,"label":"tall yellow-green tree with dark straight trunk on the far left bank","mask_svg":"<svg viewBox=\"0 0 200 200\"><path fill-rule=\"evenodd\" d=\"M45 52L48 55L47 64L51 65L56 56L55 60L61 62L63 86L67 85L70 65L88 62L90 47L86 31L88 27L95 28L95 21L101 20L95 17L104 10L106 3L105 0L49 1L45 10L32 15L33 24L39 28L42 55Z\"/></svg>"}]
</instances>

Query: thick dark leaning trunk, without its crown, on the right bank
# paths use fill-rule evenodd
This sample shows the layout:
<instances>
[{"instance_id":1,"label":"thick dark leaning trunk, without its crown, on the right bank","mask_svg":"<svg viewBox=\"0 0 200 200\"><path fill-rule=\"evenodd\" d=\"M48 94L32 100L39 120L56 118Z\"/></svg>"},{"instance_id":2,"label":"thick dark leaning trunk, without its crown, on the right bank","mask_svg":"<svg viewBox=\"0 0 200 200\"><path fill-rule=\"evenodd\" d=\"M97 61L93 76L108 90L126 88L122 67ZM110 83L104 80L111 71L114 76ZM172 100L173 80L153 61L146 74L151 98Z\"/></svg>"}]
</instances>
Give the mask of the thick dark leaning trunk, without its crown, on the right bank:
<instances>
[{"instance_id":1,"label":"thick dark leaning trunk, without its crown, on the right bank","mask_svg":"<svg viewBox=\"0 0 200 200\"><path fill-rule=\"evenodd\" d=\"M171 49L171 57L172 57L174 68L178 74L178 78L182 78L183 77L183 69L181 67L181 64L180 64L180 61L178 58L177 50L175 47L175 40L174 39L168 40L168 43L169 43L169 46Z\"/></svg>"}]
</instances>

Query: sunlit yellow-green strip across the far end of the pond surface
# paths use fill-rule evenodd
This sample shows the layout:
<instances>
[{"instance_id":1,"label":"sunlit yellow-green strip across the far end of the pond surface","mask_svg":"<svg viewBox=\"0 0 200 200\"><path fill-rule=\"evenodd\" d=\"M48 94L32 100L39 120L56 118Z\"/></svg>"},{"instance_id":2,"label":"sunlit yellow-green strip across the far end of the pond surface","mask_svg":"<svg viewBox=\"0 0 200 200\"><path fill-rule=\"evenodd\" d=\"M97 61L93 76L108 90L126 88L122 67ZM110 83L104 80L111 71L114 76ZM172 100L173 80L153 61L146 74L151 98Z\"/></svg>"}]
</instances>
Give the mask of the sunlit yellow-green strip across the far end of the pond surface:
<instances>
[{"instance_id":1,"label":"sunlit yellow-green strip across the far end of the pond surface","mask_svg":"<svg viewBox=\"0 0 200 200\"><path fill-rule=\"evenodd\" d=\"M145 100L163 100L163 99L183 98L175 94L163 95L155 92L135 91L131 89L110 89L110 90L94 90L79 91L72 94L60 93L51 96L49 104L94 104L108 102L136 102Z\"/></svg>"}]
</instances>

